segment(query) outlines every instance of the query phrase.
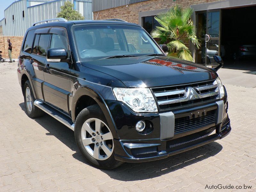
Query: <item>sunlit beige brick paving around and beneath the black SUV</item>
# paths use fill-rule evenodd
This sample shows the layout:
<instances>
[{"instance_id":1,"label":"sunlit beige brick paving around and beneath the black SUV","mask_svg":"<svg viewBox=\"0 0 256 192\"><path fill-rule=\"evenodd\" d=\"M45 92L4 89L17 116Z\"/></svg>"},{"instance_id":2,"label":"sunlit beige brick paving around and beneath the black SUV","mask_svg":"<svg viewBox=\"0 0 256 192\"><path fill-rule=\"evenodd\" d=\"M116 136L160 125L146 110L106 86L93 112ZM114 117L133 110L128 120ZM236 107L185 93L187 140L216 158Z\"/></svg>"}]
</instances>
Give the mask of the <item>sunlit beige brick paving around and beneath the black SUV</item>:
<instances>
[{"instance_id":1,"label":"sunlit beige brick paving around and beneath the black SUV","mask_svg":"<svg viewBox=\"0 0 256 192\"><path fill-rule=\"evenodd\" d=\"M204 191L206 185L218 184L256 190L256 88L226 85L232 132L223 140L163 160L102 171L82 158L67 127L48 115L26 115L17 64L4 64L0 191Z\"/></svg>"}]
</instances>

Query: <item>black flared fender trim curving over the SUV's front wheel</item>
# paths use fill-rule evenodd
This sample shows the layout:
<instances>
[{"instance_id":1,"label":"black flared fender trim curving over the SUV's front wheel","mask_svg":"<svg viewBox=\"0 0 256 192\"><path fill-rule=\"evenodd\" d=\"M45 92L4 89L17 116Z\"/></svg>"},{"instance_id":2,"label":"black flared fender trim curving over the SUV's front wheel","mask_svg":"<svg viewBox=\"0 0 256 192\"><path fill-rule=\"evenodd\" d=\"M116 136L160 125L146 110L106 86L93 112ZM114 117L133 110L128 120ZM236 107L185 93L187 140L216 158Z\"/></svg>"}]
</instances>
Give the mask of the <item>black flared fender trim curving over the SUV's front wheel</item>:
<instances>
[{"instance_id":1,"label":"black flared fender trim curving over the SUV's front wheel","mask_svg":"<svg viewBox=\"0 0 256 192\"><path fill-rule=\"evenodd\" d=\"M72 121L75 122L75 111L76 111L77 101L79 100L80 97L82 97L84 95L90 96L92 99L94 99L97 102L97 104L100 106L104 116L106 117L109 129L111 130L113 137L115 139L119 139L119 135L118 135L117 129L116 129L116 124L114 122L114 119L110 113L110 110L109 110L106 102L104 101L104 99L100 95L100 93L90 86L81 86L76 90L73 100L72 100L72 105L71 105Z\"/></svg>"}]
</instances>

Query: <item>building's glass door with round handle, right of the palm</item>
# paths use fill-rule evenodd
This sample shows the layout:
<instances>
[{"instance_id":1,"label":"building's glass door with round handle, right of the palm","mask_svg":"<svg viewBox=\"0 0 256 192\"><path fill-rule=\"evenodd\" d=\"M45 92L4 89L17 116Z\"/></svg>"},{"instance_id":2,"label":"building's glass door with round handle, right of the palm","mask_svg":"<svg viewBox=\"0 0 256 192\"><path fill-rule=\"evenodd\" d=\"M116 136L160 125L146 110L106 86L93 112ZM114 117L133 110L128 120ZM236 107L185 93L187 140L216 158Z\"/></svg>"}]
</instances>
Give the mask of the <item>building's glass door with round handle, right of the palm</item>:
<instances>
[{"instance_id":1,"label":"building's glass door with round handle, right of the palm","mask_svg":"<svg viewBox=\"0 0 256 192\"><path fill-rule=\"evenodd\" d=\"M212 67L218 65L213 56L221 56L220 18L220 9L197 13L197 37L201 40L200 50L197 51L197 63Z\"/></svg>"}]
</instances>

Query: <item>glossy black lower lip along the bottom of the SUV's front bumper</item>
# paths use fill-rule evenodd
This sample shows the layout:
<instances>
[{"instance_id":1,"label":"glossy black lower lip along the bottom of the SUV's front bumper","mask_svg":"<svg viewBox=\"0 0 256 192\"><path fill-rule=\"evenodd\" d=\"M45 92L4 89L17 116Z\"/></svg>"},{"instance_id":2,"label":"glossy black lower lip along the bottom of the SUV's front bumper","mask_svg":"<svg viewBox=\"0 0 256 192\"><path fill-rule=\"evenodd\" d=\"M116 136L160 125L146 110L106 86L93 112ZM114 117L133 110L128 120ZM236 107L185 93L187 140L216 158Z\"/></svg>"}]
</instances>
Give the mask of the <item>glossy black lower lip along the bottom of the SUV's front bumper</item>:
<instances>
[{"instance_id":1,"label":"glossy black lower lip along the bottom of the SUV's front bumper","mask_svg":"<svg viewBox=\"0 0 256 192\"><path fill-rule=\"evenodd\" d=\"M124 156L119 156L118 154L115 155L116 160L119 161L123 161L123 162L130 162L130 163L135 163L135 162L148 162L148 161L154 161L154 160L158 160L158 159L164 159L167 158L168 156L172 156L178 153L182 153L184 151L188 151L190 149L193 148L197 148L200 146L203 146L205 144L211 143L215 140L219 140L222 139L224 137L226 137L231 131L231 127L230 127L230 122L228 122L228 124L225 125L225 127L222 127L222 132L220 132L219 134L214 133L212 135L209 135L201 140L198 140L198 142L196 144L187 144L184 145L183 148L177 149L177 150L172 150L170 152L168 152L168 149L162 150L162 151L158 151L157 153L152 154L152 156L150 157L142 157L142 158L134 158L134 157L124 157Z\"/></svg>"}]
</instances>

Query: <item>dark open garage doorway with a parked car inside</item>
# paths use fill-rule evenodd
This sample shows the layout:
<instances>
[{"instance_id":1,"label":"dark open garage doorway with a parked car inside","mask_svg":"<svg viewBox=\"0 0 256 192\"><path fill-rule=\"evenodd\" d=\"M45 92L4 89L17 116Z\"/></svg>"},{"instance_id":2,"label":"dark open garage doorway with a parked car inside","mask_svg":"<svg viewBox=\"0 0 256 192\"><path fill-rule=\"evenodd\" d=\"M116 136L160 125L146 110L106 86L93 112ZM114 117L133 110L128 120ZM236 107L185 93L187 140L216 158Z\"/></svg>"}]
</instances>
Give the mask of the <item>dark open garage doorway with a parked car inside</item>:
<instances>
[{"instance_id":1,"label":"dark open garage doorway with a parked car inside","mask_svg":"<svg viewBox=\"0 0 256 192\"><path fill-rule=\"evenodd\" d=\"M220 55L223 68L256 71L256 6L223 9Z\"/></svg>"}]
</instances>

